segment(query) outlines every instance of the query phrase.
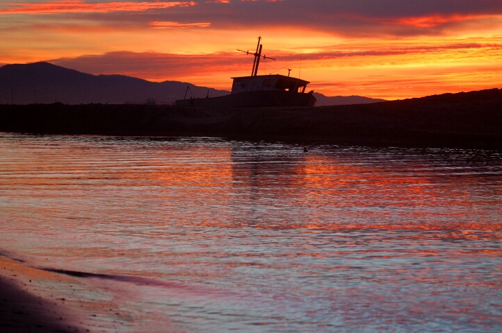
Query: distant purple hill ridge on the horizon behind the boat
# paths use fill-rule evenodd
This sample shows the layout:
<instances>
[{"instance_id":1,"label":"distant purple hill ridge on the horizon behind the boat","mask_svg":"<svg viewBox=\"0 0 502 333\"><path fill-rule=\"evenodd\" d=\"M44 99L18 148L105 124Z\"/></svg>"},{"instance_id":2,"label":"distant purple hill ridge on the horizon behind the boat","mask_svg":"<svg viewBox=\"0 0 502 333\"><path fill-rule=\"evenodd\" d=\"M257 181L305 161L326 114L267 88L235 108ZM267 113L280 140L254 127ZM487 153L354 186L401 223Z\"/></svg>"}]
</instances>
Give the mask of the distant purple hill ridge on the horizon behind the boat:
<instances>
[{"instance_id":1,"label":"distant purple hill ridge on the horizon behind the boat","mask_svg":"<svg viewBox=\"0 0 502 333\"><path fill-rule=\"evenodd\" d=\"M0 104L31 103L172 103L187 96L204 98L229 94L226 90L199 87L179 81L150 82L123 75L92 75L49 62L0 67ZM314 93L316 105L364 104L384 101L364 96L328 97Z\"/></svg>"}]
</instances>

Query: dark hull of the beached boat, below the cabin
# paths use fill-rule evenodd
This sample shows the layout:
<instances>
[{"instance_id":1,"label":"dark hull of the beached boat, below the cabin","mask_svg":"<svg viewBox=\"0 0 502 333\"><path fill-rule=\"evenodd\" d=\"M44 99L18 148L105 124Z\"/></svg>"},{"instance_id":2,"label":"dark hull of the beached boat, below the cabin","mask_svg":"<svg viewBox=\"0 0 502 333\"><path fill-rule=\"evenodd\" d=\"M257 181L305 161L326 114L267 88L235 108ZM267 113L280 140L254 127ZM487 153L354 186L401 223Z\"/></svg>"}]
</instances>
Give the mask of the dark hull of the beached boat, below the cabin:
<instances>
[{"instance_id":1,"label":"dark hull of the beached boat, below the cabin","mask_svg":"<svg viewBox=\"0 0 502 333\"><path fill-rule=\"evenodd\" d=\"M175 105L256 108L267 106L314 106L316 97L313 94L284 91L239 92L220 97L206 99L180 99Z\"/></svg>"}]
</instances>

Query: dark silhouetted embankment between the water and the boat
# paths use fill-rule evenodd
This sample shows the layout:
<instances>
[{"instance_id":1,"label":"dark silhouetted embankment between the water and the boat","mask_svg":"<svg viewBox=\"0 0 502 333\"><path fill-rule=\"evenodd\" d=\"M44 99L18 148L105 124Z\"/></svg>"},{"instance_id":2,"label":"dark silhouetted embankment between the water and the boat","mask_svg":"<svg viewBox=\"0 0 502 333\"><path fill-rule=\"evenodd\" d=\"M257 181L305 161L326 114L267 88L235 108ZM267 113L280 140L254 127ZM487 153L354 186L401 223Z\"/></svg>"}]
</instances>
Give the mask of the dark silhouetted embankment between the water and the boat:
<instances>
[{"instance_id":1,"label":"dark silhouetted embankment between the water and the boat","mask_svg":"<svg viewBox=\"0 0 502 333\"><path fill-rule=\"evenodd\" d=\"M348 144L502 148L502 89L317 108L0 105L20 133L222 136Z\"/></svg>"}]
</instances>

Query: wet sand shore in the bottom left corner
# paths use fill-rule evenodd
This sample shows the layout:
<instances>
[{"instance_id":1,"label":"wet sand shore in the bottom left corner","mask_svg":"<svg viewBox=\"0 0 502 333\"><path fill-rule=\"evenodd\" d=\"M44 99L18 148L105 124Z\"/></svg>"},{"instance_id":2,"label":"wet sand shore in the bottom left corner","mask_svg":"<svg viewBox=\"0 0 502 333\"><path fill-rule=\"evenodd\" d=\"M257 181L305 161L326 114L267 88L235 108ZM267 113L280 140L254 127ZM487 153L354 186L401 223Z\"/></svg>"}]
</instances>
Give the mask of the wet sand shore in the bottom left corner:
<instances>
[{"instance_id":1,"label":"wet sand shore in the bottom left corner","mask_svg":"<svg viewBox=\"0 0 502 333\"><path fill-rule=\"evenodd\" d=\"M0 332L122 332L118 306L91 289L0 255Z\"/></svg>"}]
</instances>

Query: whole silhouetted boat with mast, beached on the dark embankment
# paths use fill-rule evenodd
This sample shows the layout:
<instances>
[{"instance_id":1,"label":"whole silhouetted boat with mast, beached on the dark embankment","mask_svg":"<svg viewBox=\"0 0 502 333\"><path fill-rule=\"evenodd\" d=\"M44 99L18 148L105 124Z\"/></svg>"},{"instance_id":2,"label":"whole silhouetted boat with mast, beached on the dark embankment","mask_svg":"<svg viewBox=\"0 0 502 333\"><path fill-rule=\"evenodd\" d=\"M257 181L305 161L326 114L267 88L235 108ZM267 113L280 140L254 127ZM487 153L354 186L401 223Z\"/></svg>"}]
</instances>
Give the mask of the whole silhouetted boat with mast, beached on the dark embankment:
<instances>
[{"instance_id":1,"label":"whole silhouetted boat with mast, beached on the dark embankment","mask_svg":"<svg viewBox=\"0 0 502 333\"><path fill-rule=\"evenodd\" d=\"M316 97L313 92L305 92L309 81L280 74L257 75L260 59L272 59L261 56L261 37L258 37L257 51L254 56L251 76L232 78L232 92L219 97L205 99L180 99L175 105L208 106L208 107L265 107L265 106L314 106Z\"/></svg>"}]
</instances>

